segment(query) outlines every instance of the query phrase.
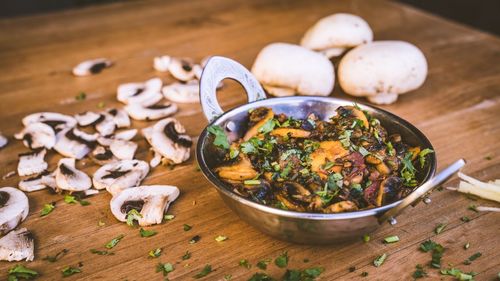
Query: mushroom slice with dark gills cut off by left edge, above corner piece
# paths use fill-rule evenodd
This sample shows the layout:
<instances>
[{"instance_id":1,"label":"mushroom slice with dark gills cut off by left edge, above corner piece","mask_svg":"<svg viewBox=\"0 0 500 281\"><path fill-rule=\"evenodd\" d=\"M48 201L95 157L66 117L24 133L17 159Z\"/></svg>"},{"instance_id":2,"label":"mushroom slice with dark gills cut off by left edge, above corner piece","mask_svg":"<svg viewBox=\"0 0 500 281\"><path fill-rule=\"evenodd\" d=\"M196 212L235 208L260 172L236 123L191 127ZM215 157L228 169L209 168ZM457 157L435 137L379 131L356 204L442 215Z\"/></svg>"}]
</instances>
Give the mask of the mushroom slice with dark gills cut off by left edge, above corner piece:
<instances>
[{"instance_id":1,"label":"mushroom slice with dark gills cut off by left edge, above corner piece","mask_svg":"<svg viewBox=\"0 0 500 281\"><path fill-rule=\"evenodd\" d=\"M24 192L14 187L0 188L0 236L16 228L28 212L28 197Z\"/></svg>"}]
</instances>

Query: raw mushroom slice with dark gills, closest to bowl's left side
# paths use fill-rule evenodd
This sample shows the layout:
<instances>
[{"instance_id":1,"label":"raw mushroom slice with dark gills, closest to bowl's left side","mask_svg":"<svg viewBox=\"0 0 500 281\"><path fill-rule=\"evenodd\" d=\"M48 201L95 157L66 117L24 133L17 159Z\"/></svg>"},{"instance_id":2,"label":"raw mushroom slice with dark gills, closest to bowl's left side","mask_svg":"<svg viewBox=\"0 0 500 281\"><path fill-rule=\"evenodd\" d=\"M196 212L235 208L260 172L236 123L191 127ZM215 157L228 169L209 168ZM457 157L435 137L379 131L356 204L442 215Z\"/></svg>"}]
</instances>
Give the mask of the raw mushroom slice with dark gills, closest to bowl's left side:
<instances>
[{"instance_id":1,"label":"raw mushroom slice with dark gills, closest to bowl's left side","mask_svg":"<svg viewBox=\"0 0 500 281\"><path fill-rule=\"evenodd\" d=\"M151 146L169 162L182 163L189 159L193 144L185 133L186 129L176 119L163 119L153 126Z\"/></svg>"}]
</instances>

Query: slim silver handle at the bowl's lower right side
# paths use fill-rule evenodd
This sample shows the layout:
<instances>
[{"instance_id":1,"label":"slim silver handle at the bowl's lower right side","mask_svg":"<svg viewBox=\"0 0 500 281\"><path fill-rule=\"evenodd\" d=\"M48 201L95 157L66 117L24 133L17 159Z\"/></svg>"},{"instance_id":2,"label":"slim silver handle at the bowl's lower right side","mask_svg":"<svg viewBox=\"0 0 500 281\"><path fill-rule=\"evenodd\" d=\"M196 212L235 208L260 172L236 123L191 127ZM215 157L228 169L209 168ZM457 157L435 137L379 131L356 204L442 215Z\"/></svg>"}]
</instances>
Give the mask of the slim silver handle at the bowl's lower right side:
<instances>
[{"instance_id":1,"label":"slim silver handle at the bowl's lower right side","mask_svg":"<svg viewBox=\"0 0 500 281\"><path fill-rule=\"evenodd\" d=\"M431 178L429 181L422 184L420 187L418 187L412 193L410 193L410 195L406 196L406 198L403 199L403 201L401 201L399 205L385 212L378 219L379 223L384 223L386 221L389 221L391 224L394 224L392 223L392 221L395 221L394 218L398 216L403 211L403 209L405 209L409 205L414 204L415 202L418 202L417 200L419 200L422 196L424 196L434 187L445 182L448 178L450 178L452 175L458 172L458 170L460 170L460 168L462 168L464 165L465 165L464 159L459 159L455 161L455 163L451 164L446 169L439 172L435 177Z\"/></svg>"}]
</instances>

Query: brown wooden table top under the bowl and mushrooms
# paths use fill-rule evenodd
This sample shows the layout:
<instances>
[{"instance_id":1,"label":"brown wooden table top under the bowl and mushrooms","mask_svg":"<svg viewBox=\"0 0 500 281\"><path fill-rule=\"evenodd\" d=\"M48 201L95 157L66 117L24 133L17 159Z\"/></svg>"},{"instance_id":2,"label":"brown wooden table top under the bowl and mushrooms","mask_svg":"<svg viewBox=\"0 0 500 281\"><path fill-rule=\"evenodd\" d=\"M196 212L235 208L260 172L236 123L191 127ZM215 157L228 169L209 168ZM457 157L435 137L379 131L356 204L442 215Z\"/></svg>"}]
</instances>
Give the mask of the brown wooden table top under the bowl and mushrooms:
<instances>
[{"instance_id":1,"label":"brown wooden table top under the bowl and mushrooms","mask_svg":"<svg viewBox=\"0 0 500 281\"><path fill-rule=\"evenodd\" d=\"M429 62L424 86L384 108L409 120L430 138L440 168L464 157L467 173L484 180L500 178L500 40L394 2L130 1L2 19L0 130L12 136L21 129L21 118L37 111L74 114L98 110L100 102L121 106L115 98L118 84L162 76L152 69L156 55L201 59L219 54L250 67L266 44L296 43L316 20L335 12L362 16L377 40L407 40L423 50ZM92 77L71 76L74 65L95 57L109 57L116 65ZM74 98L80 91L87 93L84 101ZM226 109L245 100L242 90L231 83L220 96ZM332 96L352 99L338 85ZM181 105L176 117L192 136L206 125L197 104ZM134 122L134 127L146 125ZM137 140L141 146L137 157L150 159L144 139ZM0 152L0 174L15 170L17 154L25 150L11 137L11 144ZM486 160L487 156L491 160ZM58 159L55 153L50 154L51 168ZM90 161L83 162L86 172L96 169ZM22 264L39 271L41 280L58 280L62 268L80 262L82 273L68 280L161 280L162 275L155 272L160 261L175 265L169 274L171 280L191 280L205 264L215 270L206 280L221 280L226 274L232 274L233 280L246 280L259 271L255 266L259 260L288 251L289 268L322 266L321 280L359 280L362 272L369 274L363 280L411 280L415 265L426 265L431 259L430 253L418 250L421 242L431 238L446 247L444 267L451 263L473 270L479 273L477 280L493 280L500 271L500 215L467 209L471 203L495 206L493 202L473 202L450 191L434 192L431 204L406 210L396 226L381 227L369 243L357 239L330 246L293 245L267 237L240 221L196 167L193 155L173 170L154 169L145 180L145 184L179 186L182 193L169 210L176 218L148 228L158 231L151 238L141 238L137 229L118 222L109 211L111 196L105 192L91 197L91 205L86 207L68 205L61 195L48 191L30 193L30 215L22 226L36 236L36 259ZM1 185L16 186L18 180L14 176L2 180ZM456 184L456 179L449 183ZM54 212L40 217L43 205L53 201ZM462 216L472 220L464 223ZM105 226L98 226L100 220ZM448 225L435 235L433 230L439 223ZM183 224L192 225L192 230L183 231ZM102 249L119 234L125 238L113 249L113 256L89 252L91 248ZM188 241L194 235L202 238L191 245ZM229 239L216 242L218 235ZM401 241L381 243L389 235L398 235ZM470 248L464 250L467 242ZM157 247L163 248L162 256L148 258L148 252ZM59 261L42 260L63 249L69 252ZM192 258L182 261L186 251ZM463 265L475 252L481 252L482 257ZM375 268L372 261L382 253L388 254L387 261ZM240 259L248 259L252 268L239 266ZM1 280L14 265L0 262ZM348 270L352 266L356 267L354 272ZM426 266L426 271L429 279L442 278L436 269ZM284 269L269 265L266 272L279 278Z\"/></svg>"}]
</instances>

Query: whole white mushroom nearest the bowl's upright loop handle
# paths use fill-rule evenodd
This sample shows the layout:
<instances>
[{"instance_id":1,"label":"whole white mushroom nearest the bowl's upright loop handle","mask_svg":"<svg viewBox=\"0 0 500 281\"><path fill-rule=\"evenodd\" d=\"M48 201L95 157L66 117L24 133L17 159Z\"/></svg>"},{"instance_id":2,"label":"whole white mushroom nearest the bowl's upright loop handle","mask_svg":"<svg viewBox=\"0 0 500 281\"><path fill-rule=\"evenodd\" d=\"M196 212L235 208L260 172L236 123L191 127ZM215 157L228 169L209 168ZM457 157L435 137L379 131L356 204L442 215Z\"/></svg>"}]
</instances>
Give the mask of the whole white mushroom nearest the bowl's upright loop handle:
<instances>
[{"instance_id":1,"label":"whole white mushroom nearest the bowl's upright loop handle","mask_svg":"<svg viewBox=\"0 0 500 281\"><path fill-rule=\"evenodd\" d=\"M288 88L303 95L327 96L335 82L333 65L325 56L287 43L264 47L252 73L263 85Z\"/></svg>"}]
</instances>

